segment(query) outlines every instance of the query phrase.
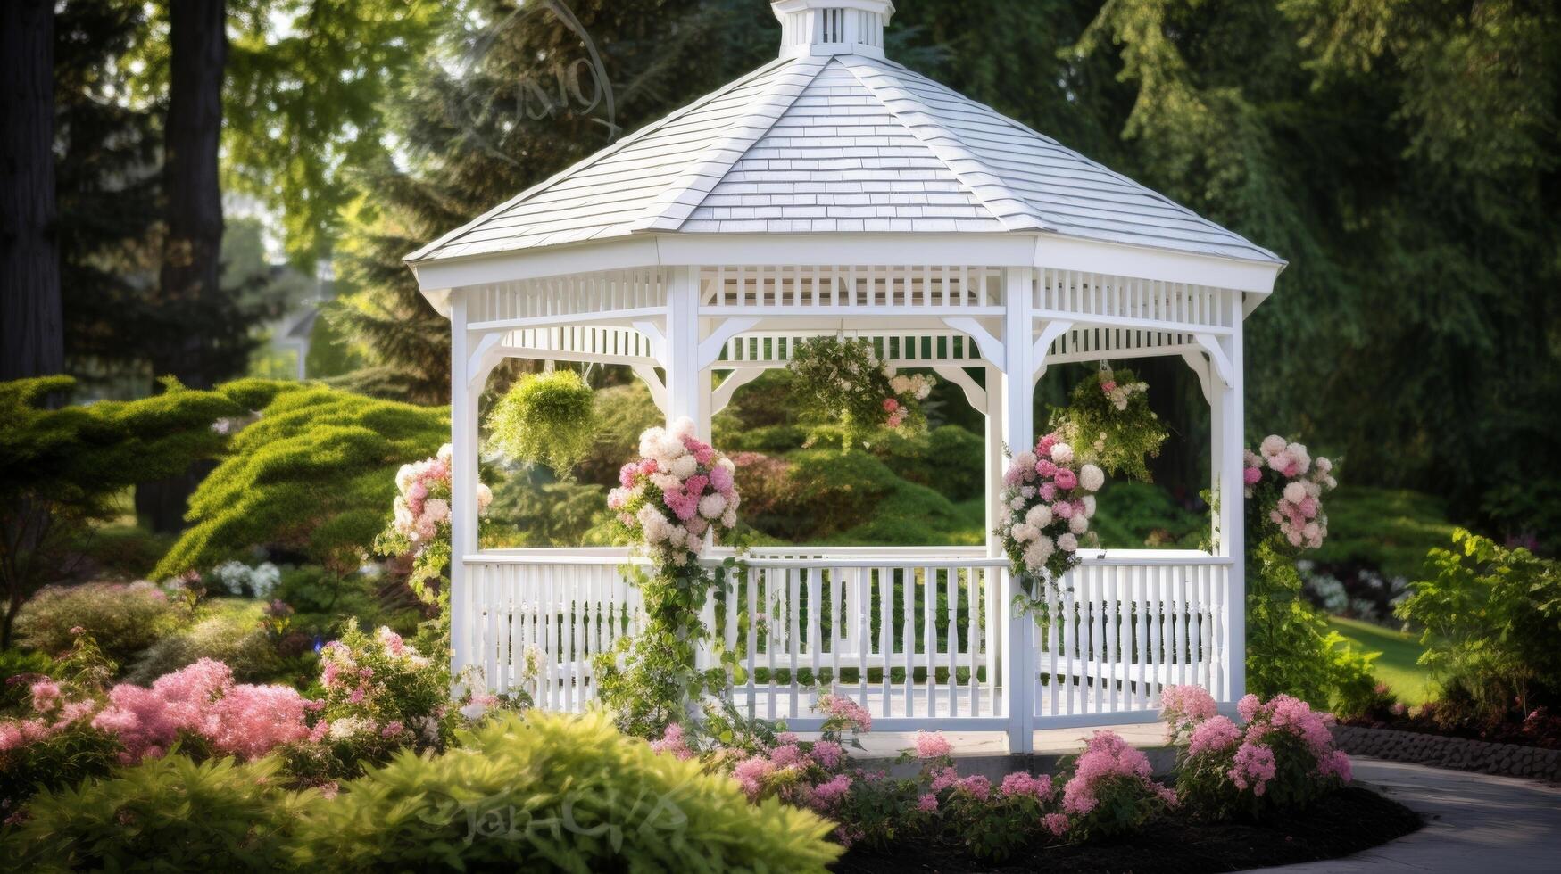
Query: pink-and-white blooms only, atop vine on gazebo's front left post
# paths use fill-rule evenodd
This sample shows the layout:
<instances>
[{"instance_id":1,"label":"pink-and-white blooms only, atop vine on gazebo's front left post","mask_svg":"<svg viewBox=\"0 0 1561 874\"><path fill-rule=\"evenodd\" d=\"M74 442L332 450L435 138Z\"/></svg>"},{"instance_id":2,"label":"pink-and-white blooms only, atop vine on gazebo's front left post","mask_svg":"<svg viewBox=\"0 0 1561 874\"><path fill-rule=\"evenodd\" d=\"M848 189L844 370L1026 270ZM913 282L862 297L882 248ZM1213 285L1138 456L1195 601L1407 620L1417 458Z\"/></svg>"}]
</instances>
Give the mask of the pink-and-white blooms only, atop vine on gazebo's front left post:
<instances>
[{"instance_id":1,"label":"pink-and-white blooms only, atop vine on gazebo's front left post","mask_svg":"<svg viewBox=\"0 0 1561 874\"><path fill-rule=\"evenodd\" d=\"M623 531L659 563L687 565L704 551L704 535L737 526L737 468L693 434L693 421L640 434L640 459L618 471L607 509Z\"/></svg>"}]
</instances>

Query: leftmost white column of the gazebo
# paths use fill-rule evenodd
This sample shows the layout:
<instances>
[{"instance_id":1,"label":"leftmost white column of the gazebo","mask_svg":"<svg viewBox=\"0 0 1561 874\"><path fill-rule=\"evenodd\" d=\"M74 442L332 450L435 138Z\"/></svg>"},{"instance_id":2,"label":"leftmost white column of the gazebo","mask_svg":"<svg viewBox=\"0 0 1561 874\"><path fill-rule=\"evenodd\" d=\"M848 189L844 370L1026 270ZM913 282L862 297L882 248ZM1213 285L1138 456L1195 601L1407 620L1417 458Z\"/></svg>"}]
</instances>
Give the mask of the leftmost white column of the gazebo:
<instances>
[{"instance_id":1,"label":"leftmost white column of the gazebo","mask_svg":"<svg viewBox=\"0 0 1561 874\"><path fill-rule=\"evenodd\" d=\"M467 588L464 557L478 549L478 396L471 384L471 336L467 331L467 295L450 295L450 648L453 673L475 662L471 627L475 602Z\"/></svg>"}]
</instances>

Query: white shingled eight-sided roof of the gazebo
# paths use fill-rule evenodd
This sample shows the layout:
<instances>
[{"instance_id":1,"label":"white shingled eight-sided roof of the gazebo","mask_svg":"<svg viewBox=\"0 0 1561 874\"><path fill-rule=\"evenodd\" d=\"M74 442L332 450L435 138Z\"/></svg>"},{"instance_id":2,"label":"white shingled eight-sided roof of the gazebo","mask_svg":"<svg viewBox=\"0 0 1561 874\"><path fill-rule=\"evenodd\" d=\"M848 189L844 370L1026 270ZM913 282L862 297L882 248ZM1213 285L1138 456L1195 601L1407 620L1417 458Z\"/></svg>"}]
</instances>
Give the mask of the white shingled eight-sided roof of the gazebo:
<instances>
[{"instance_id":1,"label":"white shingled eight-sided roof of the gazebo","mask_svg":"<svg viewBox=\"0 0 1561 874\"><path fill-rule=\"evenodd\" d=\"M791 5L818 11L816 0ZM785 22L784 6L776 14ZM882 22L893 14L888 3L865 6L887 8ZM782 58L407 261L654 233L1030 233L1283 264L1171 198L884 59L868 36L830 39L820 45L815 36L812 52L805 42L784 47Z\"/></svg>"}]
</instances>

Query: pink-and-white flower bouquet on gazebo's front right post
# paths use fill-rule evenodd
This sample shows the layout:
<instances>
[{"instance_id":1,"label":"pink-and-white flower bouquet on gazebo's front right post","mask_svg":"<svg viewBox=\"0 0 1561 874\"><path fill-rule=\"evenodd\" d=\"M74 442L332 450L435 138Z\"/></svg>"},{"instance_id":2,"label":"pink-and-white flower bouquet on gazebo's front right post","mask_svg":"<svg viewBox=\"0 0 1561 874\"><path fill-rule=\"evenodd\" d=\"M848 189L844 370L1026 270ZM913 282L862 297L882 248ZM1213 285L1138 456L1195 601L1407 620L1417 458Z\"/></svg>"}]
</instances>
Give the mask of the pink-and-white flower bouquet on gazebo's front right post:
<instances>
[{"instance_id":1,"label":"pink-and-white flower bouquet on gazebo's front right post","mask_svg":"<svg viewBox=\"0 0 1561 874\"><path fill-rule=\"evenodd\" d=\"M1055 432L1010 459L996 534L1030 598L1040 598L1037 584L1057 581L1079 563L1082 545L1097 540L1090 518L1102 485L1105 471L1077 457Z\"/></svg>"}]
</instances>

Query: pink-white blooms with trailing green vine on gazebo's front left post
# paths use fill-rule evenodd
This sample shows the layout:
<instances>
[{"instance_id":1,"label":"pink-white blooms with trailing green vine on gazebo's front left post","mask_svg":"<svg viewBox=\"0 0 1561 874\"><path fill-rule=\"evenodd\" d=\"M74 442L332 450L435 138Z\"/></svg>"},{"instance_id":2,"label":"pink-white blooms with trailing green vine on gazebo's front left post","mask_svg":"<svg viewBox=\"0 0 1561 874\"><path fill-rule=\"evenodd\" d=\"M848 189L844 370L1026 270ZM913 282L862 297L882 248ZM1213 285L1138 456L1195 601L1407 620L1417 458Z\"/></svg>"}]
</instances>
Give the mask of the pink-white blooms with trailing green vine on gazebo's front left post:
<instances>
[{"instance_id":1,"label":"pink-white blooms with trailing green vine on gazebo's front left post","mask_svg":"<svg viewBox=\"0 0 1561 874\"><path fill-rule=\"evenodd\" d=\"M643 631L596 659L599 698L629 734L662 737L668 724L687 719L706 688L726 684L724 668L701 673L695 656L709 631L699 613L716 582L699 559L706 543L737 526L735 471L681 418L640 435L640 457L623 465L618 489L607 495L620 540L648 559L648 570L631 568Z\"/></svg>"}]
</instances>

